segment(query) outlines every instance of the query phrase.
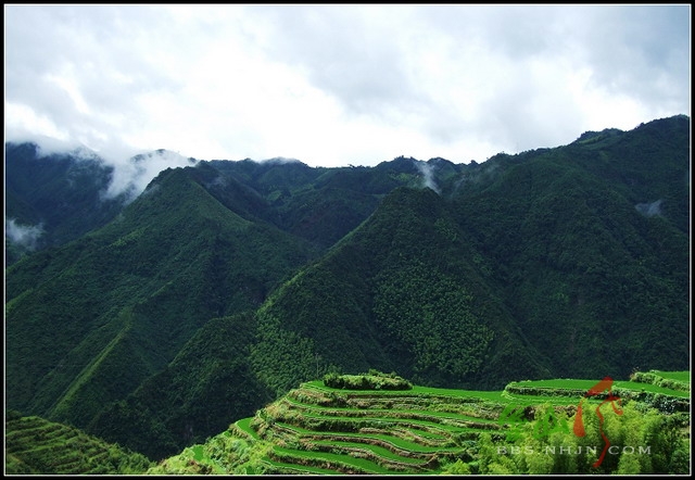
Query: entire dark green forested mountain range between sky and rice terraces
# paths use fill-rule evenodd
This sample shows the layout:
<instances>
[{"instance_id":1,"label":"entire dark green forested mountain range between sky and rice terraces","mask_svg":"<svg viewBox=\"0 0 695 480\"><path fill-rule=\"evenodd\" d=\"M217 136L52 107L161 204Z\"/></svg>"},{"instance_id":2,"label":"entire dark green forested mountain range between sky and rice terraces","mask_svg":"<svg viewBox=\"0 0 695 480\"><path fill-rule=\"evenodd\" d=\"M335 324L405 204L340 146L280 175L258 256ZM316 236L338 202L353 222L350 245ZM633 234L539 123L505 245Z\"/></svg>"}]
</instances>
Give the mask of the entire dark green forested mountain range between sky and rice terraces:
<instances>
[{"instance_id":1,"label":"entire dark green forested mountain range between sky and rice terraces","mask_svg":"<svg viewBox=\"0 0 695 480\"><path fill-rule=\"evenodd\" d=\"M93 155L5 144L8 408L159 460L313 379L690 366L687 116L482 163L190 164L119 198Z\"/></svg>"}]
</instances>

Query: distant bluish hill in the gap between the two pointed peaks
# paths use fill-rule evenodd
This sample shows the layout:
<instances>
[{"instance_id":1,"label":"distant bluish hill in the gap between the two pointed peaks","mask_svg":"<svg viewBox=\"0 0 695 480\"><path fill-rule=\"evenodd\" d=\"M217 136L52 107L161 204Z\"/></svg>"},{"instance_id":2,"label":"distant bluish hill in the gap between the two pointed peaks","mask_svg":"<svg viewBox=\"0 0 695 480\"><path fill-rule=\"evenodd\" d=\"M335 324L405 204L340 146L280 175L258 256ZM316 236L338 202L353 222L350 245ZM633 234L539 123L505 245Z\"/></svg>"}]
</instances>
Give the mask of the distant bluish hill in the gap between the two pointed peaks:
<instances>
[{"instance_id":1,"label":"distant bluish hill in the gap between the two pointed peaks","mask_svg":"<svg viewBox=\"0 0 695 480\"><path fill-rule=\"evenodd\" d=\"M326 249L357 227L394 188L420 187L415 163L396 159L374 168L313 168L298 161L212 161L203 166L217 175L204 185L245 218L262 218ZM244 186L245 199L228 194L232 184Z\"/></svg>"}]
</instances>

